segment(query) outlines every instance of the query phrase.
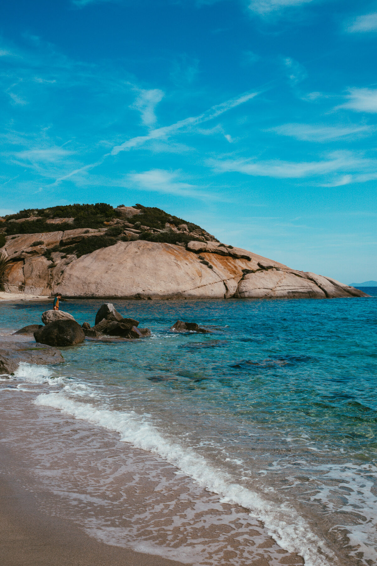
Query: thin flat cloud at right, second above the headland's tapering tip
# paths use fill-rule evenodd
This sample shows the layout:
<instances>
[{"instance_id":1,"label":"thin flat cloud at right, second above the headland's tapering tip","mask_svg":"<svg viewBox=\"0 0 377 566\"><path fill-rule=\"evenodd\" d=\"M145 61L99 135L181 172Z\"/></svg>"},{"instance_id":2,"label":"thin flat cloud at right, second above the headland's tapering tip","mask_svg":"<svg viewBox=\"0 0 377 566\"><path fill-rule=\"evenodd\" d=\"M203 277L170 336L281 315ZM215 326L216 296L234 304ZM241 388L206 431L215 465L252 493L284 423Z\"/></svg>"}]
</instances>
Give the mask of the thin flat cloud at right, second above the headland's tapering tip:
<instances>
[{"instance_id":1,"label":"thin flat cloud at right, second above the headland's tapering tip","mask_svg":"<svg viewBox=\"0 0 377 566\"><path fill-rule=\"evenodd\" d=\"M345 138L346 136L354 137L355 135L367 134L374 132L375 129L374 126L317 126L293 123L276 126L267 131L302 141L325 142Z\"/></svg>"}]
</instances>

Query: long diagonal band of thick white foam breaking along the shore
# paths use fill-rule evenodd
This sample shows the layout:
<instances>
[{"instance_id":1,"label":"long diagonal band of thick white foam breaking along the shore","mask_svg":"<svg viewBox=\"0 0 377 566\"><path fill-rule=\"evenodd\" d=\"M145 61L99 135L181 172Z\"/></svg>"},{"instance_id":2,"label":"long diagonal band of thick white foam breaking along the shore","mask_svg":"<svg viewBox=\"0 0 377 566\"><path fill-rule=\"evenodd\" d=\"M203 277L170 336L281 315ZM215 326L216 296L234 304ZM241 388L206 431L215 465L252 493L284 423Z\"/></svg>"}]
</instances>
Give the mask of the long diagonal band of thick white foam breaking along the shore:
<instances>
[{"instance_id":1,"label":"long diagonal band of thick white foam breaking along the shore","mask_svg":"<svg viewBox=\"0 0 377 566\"><path fill-rule=\"evenodd\" d=\"M36 405L54 407L78 419L116 431L120 434L121 440L146 451L158 453L202 487L222 496L222 501L239 504L249 509L252 516L263 521L268 534L281 547L300 554L307 566L337 564L333 552L311 531L304 518L288 504L271 503L256 492L236 483L231 475L215 469L193 449L184 448L164 438L145 417L140 417L133 411L101 409L72 400L65 395L64 389L59 393L40 395L34 402ZM66 392L68 393L68 390Z\"/></svg>"}]
</instances>

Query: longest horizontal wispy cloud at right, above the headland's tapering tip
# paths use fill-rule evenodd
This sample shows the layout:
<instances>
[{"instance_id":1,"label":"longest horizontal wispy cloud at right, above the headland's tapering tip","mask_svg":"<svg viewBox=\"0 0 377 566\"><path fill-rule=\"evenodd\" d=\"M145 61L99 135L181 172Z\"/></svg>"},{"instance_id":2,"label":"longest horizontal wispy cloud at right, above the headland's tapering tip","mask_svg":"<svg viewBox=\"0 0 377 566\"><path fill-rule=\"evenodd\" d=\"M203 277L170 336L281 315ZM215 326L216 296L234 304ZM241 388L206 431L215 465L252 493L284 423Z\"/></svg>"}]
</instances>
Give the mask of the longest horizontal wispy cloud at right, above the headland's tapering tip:
<instances>
[{"instance_id":1,"label":"longest horizontal wispy cloud at right, above the headland's tapering tip","mask_svg":"<svg viewBox=\"0 0 377 566\"><path fill-rule=\"evenodd\" d=\"M210 160L209 165L215 171L238 171L255 177L275 177L298 179L335 173L339 170L375 168L377 161L354 157L349 152L334 152L322 161L281 161L281 160Z\"/></svg>"}]
</instances>

